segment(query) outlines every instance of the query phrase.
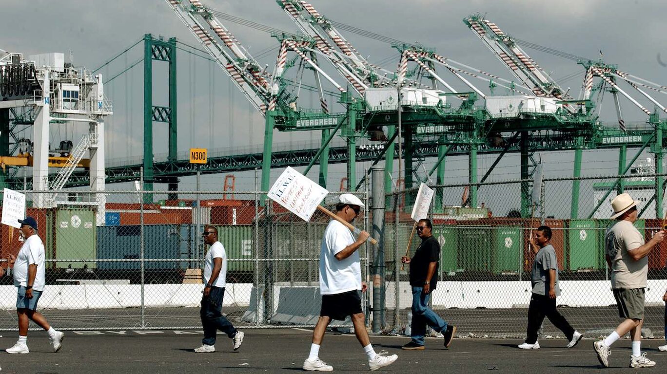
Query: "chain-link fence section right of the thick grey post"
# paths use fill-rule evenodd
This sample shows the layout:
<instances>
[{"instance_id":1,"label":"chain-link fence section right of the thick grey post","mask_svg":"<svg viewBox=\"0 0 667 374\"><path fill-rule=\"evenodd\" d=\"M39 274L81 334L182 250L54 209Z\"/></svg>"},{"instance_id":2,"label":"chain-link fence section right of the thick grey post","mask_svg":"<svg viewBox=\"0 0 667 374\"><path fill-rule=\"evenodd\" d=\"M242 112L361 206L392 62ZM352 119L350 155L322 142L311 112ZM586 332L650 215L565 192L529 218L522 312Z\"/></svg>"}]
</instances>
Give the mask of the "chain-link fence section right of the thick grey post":
<instances>
[{"instance_id":1,"label":"chain-link fence section right of the thick grey post","mask_svg":"<svg viewBox=\"0 0 667 374\"><path fill-rule=\"evenodd\" d=\"M432 307L461 335L525 337L534 259L527 242L532 229L548 225L558 257L561 313L579 331L609 333L619 321L604 257L611 201L618 191L639 201L635 226L648 241L664 225L664 209L656 211L656 177L660 182L665 176L544 179L534 204L532 181L435 186L430 218L442 250ZM658 191L662 195L664 185ZM395 259L406 254L408 243L414 254L421 241L417 235L410 241L416 193L401 191L389 199L398 218L388 219L385 231L386 330L409 323L408 269L396 271ZM667 243L648 255L646 335L664 336L666 261ZM548 322L543 328L543 335L562 335Z\"/></svg>"}]
</instances>

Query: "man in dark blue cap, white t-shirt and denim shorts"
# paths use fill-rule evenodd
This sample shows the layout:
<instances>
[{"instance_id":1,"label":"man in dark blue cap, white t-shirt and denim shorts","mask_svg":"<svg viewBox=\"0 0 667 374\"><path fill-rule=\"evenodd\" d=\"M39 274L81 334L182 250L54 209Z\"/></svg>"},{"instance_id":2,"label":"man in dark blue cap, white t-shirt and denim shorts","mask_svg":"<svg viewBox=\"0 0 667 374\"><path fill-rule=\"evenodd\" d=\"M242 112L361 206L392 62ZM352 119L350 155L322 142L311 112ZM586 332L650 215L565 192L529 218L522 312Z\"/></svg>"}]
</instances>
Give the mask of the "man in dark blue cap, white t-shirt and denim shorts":
<instances>
[{"instance_id":1,"label":"man in dark blue cap, white t-shirt and denim shorts","mask_svg":"<svg viewBox=\"0 0 667 374\"><path fill-rule=\"evenodd\" d=\"M16 313L19 317L19 340L5 349L7 353L29 353L28 324L37 323L45 329L51 338L53 351L57 352L63 345L65 333L55 331L46 318L37 311L37 301L44 291L44 244L37 235L37 221L33 217L19 219L23 246L14 262L14 285L17 287Z\"/></svg>"}]
</instances>

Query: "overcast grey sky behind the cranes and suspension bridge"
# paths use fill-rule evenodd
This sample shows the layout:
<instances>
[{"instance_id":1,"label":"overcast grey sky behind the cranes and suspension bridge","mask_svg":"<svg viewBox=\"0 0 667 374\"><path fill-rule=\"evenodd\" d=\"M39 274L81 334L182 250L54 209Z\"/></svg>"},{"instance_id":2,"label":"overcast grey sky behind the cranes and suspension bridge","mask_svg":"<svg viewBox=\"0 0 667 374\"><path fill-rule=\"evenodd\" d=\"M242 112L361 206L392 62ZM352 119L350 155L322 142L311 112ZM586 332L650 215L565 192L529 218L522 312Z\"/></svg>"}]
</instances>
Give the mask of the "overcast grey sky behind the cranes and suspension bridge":
<instances>
[{"instance_id":1,"label":"overcast grey sky behind the cranes and suspension bridge","mask_svg":"<svg viewBox=\"0 0 667 374\"><path fill-rule=\"evenodd\" d=\"M297 28L291 19L273 0L203 0L205 5L252 21L286 31ZM506 33L574 55L597 59L600 51L604 61L617 64L620 69L658 83L667 83L667 2L660 0L636 1L380 1L380 0L313 0L315 8L338 22L346 23L374 33L402 41L418 41L434 47L438 53L468 65L496 73L507 79L512 76L482 43L464 25L462 19L472 13L484 13ZM0 23L0 49L25 53L71 51L75 65L99 67L113 55L139 40L144 33L177 37L191 45L197 40L177 19L163 0L35 0L3 1ZM225 23L228 29L251 53L276 45L275 39L262 31ZM357 49L371 62L390 61L384 66L392 71L398 63L398 53L390 45L342 31ZM576 97L579 93L583 69L574 61L525 49L531 57L556 79L564 88L570 87ZM131 63L141 58L139 46L121 59L101 70L105 79L117 75ZM660 61L662 55L662 62ZM391 57L394 57L391 59ZM229 83L229 78L215 65L199 61L179 51L179 151L189 147L261 146L263 118L249 107L245 98ZM275 61L275 51L259 59ZM579 71L580 75L559 81ZM165 79L164 69L156 69L156 79ZM442 73L448 81L454 77ZM342 78L334 76L342 82ZM141 157L141 64L105 86L107 97L113 100L115 114L107 121L107 159L117 157ZM486 83L474 81L484 87ZM156 83L161 89L160 83ZM628 88L630 92L631 89ZM634 93L632 93L634 95ZM156 93L157 100L164 97L163 90ZM638 95L635 95L638 96ZM660 101L664 96L656 94ZM643 102L643 101L642 101ZM159 105L159 103L156 103ZM652 105L646 104L652 109ZM622 109L628 122L642 122L646 116L627 101ZM602 118L615 120L611 101L605 101ZM234 125L230 125L233 123ZM52 141L63 136L75 137L76 125L61 125L52 131ZM161 124L155 125L159 133ZM64 135L63 135L64 134ZM77 143L78 139L74 139ZM319 133L276 134L277 143L318 141ZM166 143L156 135L155 152L165 152ZM570 153L543 155L545 173L571 174ZM518 177L516 157L508 157L494 172L496 180ZM586 153L584 173L614 173L616 153ZM482 158L480 173L490 166L493 157ZM551 166L549 163L552 163ZM467 159L448 159L447 169L458 178L466 179ZM363 169L364 165L360 165ZM338 189L344 168L331 169L331 183ZM253 177L245 175L246 185ZM211 189L221 188L221 178L207 179ZM238 187L237 187L238 189Z\"/></svg>"}]
</instances>

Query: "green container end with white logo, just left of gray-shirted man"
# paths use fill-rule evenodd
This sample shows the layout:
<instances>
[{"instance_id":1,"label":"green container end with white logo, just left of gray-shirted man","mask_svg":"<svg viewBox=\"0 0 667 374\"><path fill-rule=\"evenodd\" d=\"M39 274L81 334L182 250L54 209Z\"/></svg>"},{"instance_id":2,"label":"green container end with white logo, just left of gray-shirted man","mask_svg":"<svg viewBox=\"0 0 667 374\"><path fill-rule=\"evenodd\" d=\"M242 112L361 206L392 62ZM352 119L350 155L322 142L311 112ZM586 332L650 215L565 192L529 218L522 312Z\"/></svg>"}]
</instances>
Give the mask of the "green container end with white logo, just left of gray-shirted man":
<instances>
[{"instance_id":1,"label":"green container end with white logo, just left of gray-shirted man","mask_svg":"<svg viewBox=\"0 0 667 374\"><path fill-rule=\"evenodd\" d=\"M518 273L524 248L524 233L520 227L496 227L494 229L493 272Z\"/></svg>"}]
</instances>

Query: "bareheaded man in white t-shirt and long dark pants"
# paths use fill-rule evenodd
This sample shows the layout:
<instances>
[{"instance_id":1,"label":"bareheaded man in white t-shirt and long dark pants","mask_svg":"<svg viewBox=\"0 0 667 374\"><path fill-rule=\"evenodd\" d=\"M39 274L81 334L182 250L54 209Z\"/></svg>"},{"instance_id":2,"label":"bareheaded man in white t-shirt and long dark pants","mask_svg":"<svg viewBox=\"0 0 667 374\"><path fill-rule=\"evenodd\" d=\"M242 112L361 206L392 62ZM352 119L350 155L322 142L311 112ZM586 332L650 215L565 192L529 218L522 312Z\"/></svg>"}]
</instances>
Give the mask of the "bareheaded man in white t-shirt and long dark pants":
<instances>
[{"instance_id":1,"label":"bareheaded man in white t-shirt and long dark pants","mask_svg":"<svg viewBox=\"0 0 667 374\"><path fill-rule=\"evenodd\" d=\"M226 333L231 339L234 351L243 343L243 331L238 331L231 322L222 315L222 301L225 297L225 277L227 276L227 253L225 247L217 240L217 228L206 225L204 243L210 245L204 258L203 281L205 283L203 297L201 297L201 325L204 330L204 339L201 347L195 348L197 353L215 352L215 335L217 330Z\"/></svg>"}]
</instances>

